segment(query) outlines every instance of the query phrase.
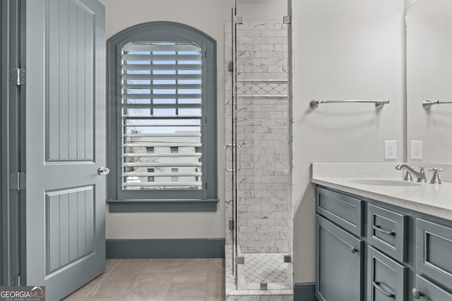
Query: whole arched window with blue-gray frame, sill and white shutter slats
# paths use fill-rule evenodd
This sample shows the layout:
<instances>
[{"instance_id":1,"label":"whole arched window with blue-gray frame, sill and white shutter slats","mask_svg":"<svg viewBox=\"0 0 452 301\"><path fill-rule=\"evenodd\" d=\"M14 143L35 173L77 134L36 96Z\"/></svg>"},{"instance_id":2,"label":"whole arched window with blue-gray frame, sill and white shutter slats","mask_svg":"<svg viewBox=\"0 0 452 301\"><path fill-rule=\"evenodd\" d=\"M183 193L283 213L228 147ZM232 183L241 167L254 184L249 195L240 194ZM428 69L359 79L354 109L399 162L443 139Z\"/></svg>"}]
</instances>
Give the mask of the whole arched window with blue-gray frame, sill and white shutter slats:
<instances>
[{"instance_id":1,"label":"whole arched window with blue-gray frame, sill and white shutter slats","mask_svg":"<svg viewBox=\"0 0 452 301\"><path fill-rule=\"evenodd\" d=\"M150 22L107 41L110 211L214 211L216 42Z\"/></svg>"}]
</instances>

